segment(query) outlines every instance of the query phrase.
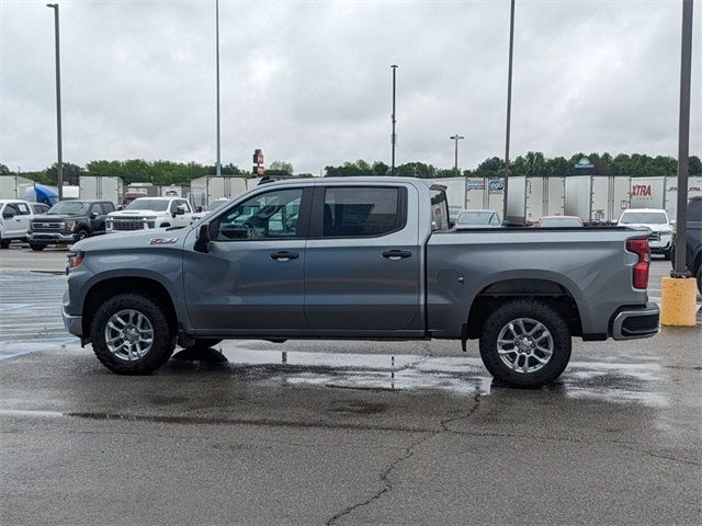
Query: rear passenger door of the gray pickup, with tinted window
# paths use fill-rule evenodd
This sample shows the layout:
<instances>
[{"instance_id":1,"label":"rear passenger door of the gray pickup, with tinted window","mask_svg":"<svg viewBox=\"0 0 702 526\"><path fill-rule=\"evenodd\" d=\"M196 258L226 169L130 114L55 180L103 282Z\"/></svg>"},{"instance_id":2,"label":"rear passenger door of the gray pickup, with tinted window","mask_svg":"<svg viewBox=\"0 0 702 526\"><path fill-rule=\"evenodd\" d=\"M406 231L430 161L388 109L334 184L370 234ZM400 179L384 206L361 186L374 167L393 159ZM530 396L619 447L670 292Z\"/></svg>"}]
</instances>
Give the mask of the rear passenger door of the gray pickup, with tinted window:
<instances>
[{"instance_id":1,"label":"rear passenger door of the gray pickup, with tinted window","mask_svg":"<svg viewBox=\"0 0 702 526\"><path fill-rule=\"evenodd\" d=\"M401 191L396 210L386 195L362 186L317 190L313 225L322 228L308 239L305 258L305 315L310 329L412 327L419 311L422 258L417 203L408 199L406 188L397 190ZM392 214L401 220L393 225Z\"/></svg>"}]
</instances>

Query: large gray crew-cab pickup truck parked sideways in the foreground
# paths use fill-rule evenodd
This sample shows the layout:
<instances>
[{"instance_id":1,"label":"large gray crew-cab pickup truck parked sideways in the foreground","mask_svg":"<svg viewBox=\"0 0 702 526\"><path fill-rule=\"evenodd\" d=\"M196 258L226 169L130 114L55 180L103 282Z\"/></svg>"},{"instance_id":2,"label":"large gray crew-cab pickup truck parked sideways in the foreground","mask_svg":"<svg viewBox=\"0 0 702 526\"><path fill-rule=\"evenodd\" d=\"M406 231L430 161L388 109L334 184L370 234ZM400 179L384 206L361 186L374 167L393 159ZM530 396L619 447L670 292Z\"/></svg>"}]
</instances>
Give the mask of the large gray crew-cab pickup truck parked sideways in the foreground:
<instances>
[{"instance_id":1,"label":"large gray crew-cab pickup truck parked sideways in the foreground","mask_svg":"<svg viewBox=\"0 0 702 526\"><path fill-rule=\"evenodd\" d=\"M646 232L449 228L399 178L258 186L184 228L76 243L64 321L120 374L223 339L479 339L503 385L553 381L570 341L658 332Z\"/></svg>"}]
</instances>

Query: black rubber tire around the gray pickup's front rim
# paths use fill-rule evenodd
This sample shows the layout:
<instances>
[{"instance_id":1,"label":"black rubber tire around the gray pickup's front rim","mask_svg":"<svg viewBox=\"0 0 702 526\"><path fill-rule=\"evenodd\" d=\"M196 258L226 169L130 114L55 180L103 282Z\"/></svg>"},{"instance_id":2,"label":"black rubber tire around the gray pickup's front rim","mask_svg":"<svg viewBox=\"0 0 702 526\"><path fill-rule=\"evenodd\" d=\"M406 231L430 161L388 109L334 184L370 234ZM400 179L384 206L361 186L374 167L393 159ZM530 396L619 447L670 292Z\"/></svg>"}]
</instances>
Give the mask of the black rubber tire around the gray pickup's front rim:
<instances>
[{"instance_id":1,"label":"black rubber tire around the gray pickup's front rim","mask_svg":"<svg viewBox=\"0 0 702 526\"><path fill-rule=\"evenodd\" d=\"M134 361L125 361L113 354L105 339L105 328L110 319L127 309L146 317L154 331L150 348ZM148 375L168 362L176 348L176 336L171 332L163 309L157 301L141 294L121 294L103 302L95 311L90 327L90 338L98 359L118 375Z\"/></svg>"}]
</instances>

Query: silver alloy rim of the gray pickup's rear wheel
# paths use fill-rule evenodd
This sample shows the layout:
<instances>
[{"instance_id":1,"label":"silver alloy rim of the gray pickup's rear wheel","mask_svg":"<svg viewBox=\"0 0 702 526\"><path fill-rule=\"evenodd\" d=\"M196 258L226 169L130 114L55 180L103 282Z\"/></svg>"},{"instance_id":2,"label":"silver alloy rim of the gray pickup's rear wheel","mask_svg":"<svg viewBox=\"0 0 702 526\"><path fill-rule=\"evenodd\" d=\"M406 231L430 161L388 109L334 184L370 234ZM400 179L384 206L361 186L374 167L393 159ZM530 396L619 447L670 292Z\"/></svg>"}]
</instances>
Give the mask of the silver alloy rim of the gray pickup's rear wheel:
<instances>
[{"instance_id":1,"label":"silver alloy rim of the gray pickup's rear wheel","mask_svg":"<svg viewBox=\"0 0 702 526\"><path fill-rule=\"evenodd\" d=\"M502 363L516 373L535 373L553 356L553 336L540 321L517 318L497 336L497 353Z\"/></svg>"}]
</instances>

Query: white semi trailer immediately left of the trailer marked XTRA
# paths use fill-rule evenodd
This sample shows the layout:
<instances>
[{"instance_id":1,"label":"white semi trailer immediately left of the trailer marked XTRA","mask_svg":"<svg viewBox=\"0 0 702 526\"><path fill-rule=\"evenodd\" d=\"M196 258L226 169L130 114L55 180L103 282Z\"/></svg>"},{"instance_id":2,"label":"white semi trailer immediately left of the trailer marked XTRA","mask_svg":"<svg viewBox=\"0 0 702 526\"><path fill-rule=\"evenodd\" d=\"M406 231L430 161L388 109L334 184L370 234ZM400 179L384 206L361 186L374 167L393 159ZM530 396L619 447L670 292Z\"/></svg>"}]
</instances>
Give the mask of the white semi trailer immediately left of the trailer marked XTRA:
<instances>
[{"instance_id":1,"label":"white semi trailer immediately left of the trailer marked XTRA","mask_svg":"<svg viewBox=\"0 0 702 526\"><path fill-rule=\"evenodd\" d=\"M566 178L566 216L578 216L588 225L614 224L630 207L631 178L574 175Z\"/></svg>"}]
</instances>

